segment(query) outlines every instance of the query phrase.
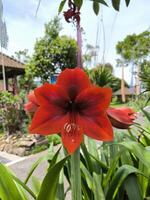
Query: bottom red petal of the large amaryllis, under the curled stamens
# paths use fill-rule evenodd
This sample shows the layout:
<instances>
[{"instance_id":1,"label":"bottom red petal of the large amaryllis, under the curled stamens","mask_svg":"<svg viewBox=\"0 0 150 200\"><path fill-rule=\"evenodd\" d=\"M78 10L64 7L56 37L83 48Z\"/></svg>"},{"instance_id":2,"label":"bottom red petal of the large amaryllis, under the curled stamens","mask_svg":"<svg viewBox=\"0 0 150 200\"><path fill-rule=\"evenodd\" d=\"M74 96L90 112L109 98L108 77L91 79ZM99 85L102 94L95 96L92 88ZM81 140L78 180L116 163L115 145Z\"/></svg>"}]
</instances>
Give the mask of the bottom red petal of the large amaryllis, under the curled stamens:
<instances>
[{"instance_id":1,"label":"bottom red petal of the large amaryllis, under the curled stamens","mask_svg":"<svg viewBox=\"0 0 150 200\"><path fill-rule=\"evenodd\" d=\"M62 142L69 154L72 154L83 140L83 129L79 125L78 117L69 119L62 129Z\"/></svg>"}]
</instances>

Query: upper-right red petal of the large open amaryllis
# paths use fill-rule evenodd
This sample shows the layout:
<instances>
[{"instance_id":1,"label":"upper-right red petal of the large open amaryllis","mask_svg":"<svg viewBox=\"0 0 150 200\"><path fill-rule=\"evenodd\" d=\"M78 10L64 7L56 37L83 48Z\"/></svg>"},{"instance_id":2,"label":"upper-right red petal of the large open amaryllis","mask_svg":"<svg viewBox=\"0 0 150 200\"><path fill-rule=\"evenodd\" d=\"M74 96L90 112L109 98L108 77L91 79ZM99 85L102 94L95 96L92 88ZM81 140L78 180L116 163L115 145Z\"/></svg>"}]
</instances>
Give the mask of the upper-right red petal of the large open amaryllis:
<instances>
[{"instance_id":1,"label":"upper-right red petal of the large open amaryllis","mask_svg":"<svg viewBox=\"0 0 150 200\"><path fill-rule=\"evenodd\" d=\"M112 96L111 88L91 87L82 91L76 98L81 115L96 116L109 106Z\"/></svg>"}]
</instances>

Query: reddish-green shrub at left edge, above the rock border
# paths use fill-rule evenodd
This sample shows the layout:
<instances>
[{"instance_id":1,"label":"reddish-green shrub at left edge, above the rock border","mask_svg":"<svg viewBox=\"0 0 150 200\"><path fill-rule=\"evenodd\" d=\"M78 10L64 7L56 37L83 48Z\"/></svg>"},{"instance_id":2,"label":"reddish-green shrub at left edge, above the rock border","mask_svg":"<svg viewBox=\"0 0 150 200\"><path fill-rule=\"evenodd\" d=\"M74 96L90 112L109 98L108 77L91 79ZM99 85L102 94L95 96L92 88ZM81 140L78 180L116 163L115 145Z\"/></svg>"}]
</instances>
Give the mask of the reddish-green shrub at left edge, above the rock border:
<instances>
[{"instance_id":1,"label":"reddish-green shrub at left edge, above the rock border","mask_svg":"<svg viewBox=\"0 0 150 200\"><path fill-rule=\"evenodd\" d=\"M0 93L0 119L3 124L3 131L8 134L23 131L25 125L25 112L23 101L19 96L14 96L7 91ZM28 121L28 120L27 120Z\"/></svg>"}]
</instances>

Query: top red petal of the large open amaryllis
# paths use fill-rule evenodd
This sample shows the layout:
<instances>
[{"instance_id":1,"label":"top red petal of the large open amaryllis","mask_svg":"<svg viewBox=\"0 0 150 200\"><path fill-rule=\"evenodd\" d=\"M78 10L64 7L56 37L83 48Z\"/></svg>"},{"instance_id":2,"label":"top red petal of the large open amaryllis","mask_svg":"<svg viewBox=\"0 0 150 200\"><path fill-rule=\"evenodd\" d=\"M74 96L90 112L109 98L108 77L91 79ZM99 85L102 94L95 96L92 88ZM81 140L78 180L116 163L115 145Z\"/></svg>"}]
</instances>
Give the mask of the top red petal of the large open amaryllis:
<instances>
[{"instance_id":1,"label":"top red petal of the large open amaryllis","mask_svg":"<svg viewBox=\"0 0 150 200\"><path fill-rule=\"evenodd\" d=\"M65 87L71 99L75 99L82 90L91 86L86 73L78 67L61 72L57 79L57 84Z\"/></svg>"}]
</instances>

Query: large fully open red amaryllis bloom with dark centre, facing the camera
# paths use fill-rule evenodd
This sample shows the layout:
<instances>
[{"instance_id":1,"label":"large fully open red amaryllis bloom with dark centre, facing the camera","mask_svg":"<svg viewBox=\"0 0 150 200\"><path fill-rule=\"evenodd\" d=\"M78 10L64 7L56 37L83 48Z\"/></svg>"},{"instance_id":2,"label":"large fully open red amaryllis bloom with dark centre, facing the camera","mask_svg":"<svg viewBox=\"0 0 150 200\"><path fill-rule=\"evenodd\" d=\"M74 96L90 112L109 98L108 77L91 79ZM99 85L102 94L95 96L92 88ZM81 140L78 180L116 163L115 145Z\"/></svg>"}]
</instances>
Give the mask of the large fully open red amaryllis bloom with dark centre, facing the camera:
<instances>
[{"instance_id":1,"label":"large fully open red amaryllis bloom with dark centre, facing the camera","mask_svg":"<svg viewBox=\"0 0 150 200\"><path fill-rule=\"evenodd\" d=\"M46 83L34 92L39 108L29 128L31 133L61 133L70 154L82 142L83 133L97 140L113 139L106 113L112 91L92 86L80 68L64 70L55 85Z\"/></svg>"}]
</instances>

